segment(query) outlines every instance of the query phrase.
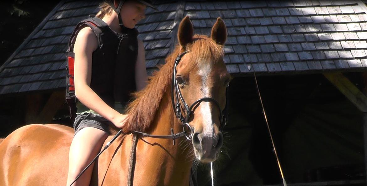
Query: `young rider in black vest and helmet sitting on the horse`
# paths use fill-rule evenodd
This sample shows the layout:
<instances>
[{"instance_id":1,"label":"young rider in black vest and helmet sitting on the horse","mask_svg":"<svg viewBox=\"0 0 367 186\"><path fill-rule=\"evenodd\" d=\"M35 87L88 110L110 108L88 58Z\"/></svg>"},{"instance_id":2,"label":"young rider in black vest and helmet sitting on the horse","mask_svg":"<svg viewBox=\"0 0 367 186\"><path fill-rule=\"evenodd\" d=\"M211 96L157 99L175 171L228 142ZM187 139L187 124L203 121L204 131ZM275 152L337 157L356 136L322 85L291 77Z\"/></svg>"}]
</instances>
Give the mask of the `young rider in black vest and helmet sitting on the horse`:
<instances>
[{"instance_id":1,"label":"young rider in black vest and helmet sitting on the horse","mask_svg":"<svg viewBox=\"0 0 367 186\"><path fill-rule=\"evenodd\" d=\"M134 28L145 18L147 5L153 7L142 0L102 3L97 17L79 23L71 36L77 116L67 186L101 150L109 127L124 128L124 107L131 93L142 90L148 81L144 45ZM89 185L92 167L73 186Z\"/></svg>"}]
</instances>

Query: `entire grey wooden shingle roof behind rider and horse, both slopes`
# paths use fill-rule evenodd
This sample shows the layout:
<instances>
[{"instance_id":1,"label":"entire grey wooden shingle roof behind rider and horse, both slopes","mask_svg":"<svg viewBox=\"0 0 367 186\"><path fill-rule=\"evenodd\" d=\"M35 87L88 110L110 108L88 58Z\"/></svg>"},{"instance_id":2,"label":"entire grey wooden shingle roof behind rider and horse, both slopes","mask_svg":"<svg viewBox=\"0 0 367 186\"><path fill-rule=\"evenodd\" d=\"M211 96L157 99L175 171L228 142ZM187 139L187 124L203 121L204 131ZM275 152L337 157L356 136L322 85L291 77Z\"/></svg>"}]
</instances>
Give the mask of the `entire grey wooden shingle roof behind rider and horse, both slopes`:
<instances>
[{"instance_id":1,"label":"entire grey wooden shingle roof behind rider and horse, both slopes","mask_svg":"<svg viewBox=\"0 0 367 186\"><path fill-rule=\"evenodd\" d=\"M157 1L137 25L148 72L163 64L189 15L210 35L217 17L228 29L225 62L234 75L364 70L367 15L361 1ZM366 9L367 10L367 9ZM65 88L65 51L75 25L98 1L62 1L0 68L0 95Z\"/></svg>"}]
</instances>

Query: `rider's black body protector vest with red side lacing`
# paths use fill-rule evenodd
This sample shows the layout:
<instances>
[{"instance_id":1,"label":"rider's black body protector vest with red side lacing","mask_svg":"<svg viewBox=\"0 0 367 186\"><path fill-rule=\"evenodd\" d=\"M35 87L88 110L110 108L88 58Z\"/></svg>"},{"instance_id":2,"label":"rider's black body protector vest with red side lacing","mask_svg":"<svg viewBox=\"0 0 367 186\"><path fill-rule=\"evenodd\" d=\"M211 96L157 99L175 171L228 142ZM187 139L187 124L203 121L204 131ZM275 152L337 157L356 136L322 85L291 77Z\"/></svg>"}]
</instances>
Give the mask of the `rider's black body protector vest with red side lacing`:
<instances>
[{"instance_id":1,"label":"rider's black body protector vest with red side lacing","mask_svg":"<svg viewBox=\"0 0 367 186\"><path fill-rule=\"evenodd\" d=\"M74 29L66 52L68 59L66 101L70 106L72 120L76 117L78 101L74 89L73 49L77 34L87 26L94 31L98 40L98 48L92 53L91 89L112 108L115 102L131 101L131 93L136 91L135 63L138 56L138 31L135 28L124 27L122 34L119 34L99 18L85 19Z\"/></svg>"}]
</instances>

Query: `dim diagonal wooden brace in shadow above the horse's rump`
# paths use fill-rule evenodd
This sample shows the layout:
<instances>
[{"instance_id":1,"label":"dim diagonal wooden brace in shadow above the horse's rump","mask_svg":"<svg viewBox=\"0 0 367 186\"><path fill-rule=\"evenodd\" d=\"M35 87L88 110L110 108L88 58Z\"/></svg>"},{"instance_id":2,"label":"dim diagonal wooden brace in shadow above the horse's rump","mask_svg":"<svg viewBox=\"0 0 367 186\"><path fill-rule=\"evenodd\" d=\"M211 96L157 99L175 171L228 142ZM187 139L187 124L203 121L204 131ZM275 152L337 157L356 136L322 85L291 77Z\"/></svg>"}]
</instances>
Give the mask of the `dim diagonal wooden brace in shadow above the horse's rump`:
<instances>
[{"instance_id":1,"label":"dim diagonal wooden brace in shadow above the horse's rump","mask_svg":"<svg viewBox=\"0 0 367 186\"><path fill-rule=\"evenodd\" d=\"M42 111L37 116L37 123L50 123L55 116L59 108L65 103L65 92L57 91L53 92L48 98L47 103L44 105Z\"/></svg>"}]
</instances>

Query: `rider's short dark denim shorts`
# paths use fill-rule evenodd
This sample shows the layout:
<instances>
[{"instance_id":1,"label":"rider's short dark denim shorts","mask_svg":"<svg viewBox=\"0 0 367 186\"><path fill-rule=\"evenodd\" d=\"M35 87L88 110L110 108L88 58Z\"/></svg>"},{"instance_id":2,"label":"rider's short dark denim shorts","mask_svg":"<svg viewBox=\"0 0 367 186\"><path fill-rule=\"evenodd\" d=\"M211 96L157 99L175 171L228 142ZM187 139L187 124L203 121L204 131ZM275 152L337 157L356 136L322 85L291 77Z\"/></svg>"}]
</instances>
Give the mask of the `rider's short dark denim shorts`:
<instances>
[{"instance_id":1,"label":"rider's short dark denim shorts","mask_svg":"<svg viewBox=\"0 0 367 186\"><path fill-rule=\"evenodd\" d=\"M85 127L94 127L110 135L110 126L113 126L113 123L101 115L93 113L78 114L74 121L74 135Z\"/></svg>"}]
</instances>

